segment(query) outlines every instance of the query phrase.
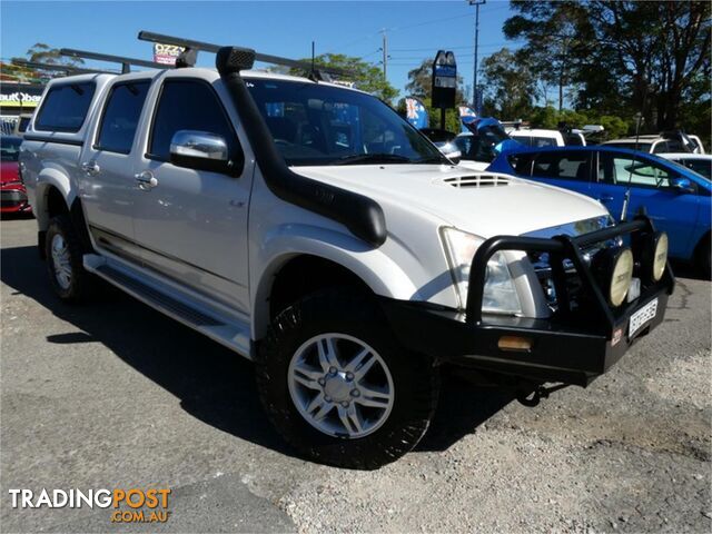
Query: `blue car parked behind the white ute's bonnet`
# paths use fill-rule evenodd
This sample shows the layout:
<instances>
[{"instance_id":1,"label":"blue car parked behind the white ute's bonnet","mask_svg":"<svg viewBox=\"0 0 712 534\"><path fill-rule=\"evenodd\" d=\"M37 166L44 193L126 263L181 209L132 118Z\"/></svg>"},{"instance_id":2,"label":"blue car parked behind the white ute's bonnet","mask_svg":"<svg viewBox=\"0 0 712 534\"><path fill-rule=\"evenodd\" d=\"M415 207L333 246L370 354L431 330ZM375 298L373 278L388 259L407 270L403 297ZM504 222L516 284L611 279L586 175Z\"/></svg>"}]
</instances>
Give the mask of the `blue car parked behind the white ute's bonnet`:
<instances>
[{"instance_id":1,"label":"blue car parked behind the white ute's bonnet","mask_svg":"<svg viewBox=\"0 0 712 534\"><path fill-rule=\"evenodd\" d=\"M652 154L591 146L503 152L488 170L587 195L616 220L630 187L627 217L644 206L655 227L668 233L670 257L692 261L710 275L712 181L684 166Z\"/></svg>"}]
</instances>

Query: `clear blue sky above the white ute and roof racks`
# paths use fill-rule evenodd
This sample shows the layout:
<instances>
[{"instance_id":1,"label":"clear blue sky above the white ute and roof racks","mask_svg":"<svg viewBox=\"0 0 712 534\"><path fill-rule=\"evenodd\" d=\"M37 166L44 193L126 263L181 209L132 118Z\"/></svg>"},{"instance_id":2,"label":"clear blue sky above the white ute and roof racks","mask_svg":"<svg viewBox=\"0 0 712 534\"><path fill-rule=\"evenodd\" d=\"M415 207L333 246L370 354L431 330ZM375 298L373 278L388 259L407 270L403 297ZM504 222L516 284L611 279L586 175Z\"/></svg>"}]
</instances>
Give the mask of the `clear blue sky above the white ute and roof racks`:
<instances>
[{"instance_id":1,"label":"clear blue sky above the white ute and roof racks","mask_svg":"<svg viewBox=\"0 0 712 534\"><path fill-rule=\"evenodd\" d=\"M135 1L0 3L0 56L24 56L36 42L151 59L139 30L177 34L219 44L239 44L265 53L308 57L340 52L378 62L380 30L388 36L388 79L404 96L409 69L437 49L453 50L465 85L473 78L475 8L453 1ZM502 23L508 1L487 0L479 11L479 59L506 42ZM212 57L201 55L200 65ZM105 67L107 65L105 63Z\"/></svg>"}]
</instances>

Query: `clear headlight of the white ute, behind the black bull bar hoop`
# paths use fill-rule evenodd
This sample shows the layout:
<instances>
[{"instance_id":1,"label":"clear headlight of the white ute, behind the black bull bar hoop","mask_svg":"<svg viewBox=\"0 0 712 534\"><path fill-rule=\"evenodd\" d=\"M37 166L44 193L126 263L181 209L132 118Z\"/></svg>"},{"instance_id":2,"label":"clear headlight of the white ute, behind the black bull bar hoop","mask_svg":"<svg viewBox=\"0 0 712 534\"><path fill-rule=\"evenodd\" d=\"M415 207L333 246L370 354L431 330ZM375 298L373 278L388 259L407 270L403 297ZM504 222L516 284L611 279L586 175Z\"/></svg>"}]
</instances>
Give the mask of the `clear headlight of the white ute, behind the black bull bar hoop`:
<instances>
[{"instance_id":1,"label":"clear headlight of the white ute, behind the black bull bar hoop","mask_svg":"<svg viewBox=\"0 0 712 534\"><path fill-rule=\"evenodd\" d=\"M467 303L472 259L484 239L455 228L443 228L442 237L459 307L464 309ZM503 253L496 253L487 261L482 310L491 314L522 314L520 297Z\"/></svg>"}]
</instances>

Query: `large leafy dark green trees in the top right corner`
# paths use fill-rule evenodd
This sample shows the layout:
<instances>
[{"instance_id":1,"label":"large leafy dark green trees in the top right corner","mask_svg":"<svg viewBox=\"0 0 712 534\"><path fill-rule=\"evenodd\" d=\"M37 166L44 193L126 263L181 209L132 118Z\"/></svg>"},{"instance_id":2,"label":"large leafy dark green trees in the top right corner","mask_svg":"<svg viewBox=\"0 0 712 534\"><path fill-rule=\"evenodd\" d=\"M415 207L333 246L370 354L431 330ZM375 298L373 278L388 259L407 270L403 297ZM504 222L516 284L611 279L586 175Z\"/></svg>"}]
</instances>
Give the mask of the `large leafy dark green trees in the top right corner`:
<instances>
[{"instance_id":1,"label":"large leafy dark green trees in the top right corner","mask_svg":"<svg viewBox=\"0 0 712 534\"><path fill-rule=\"evenodd\" d=\"M517 14L506 20L504 33L526 40L522 53L540 85L557 86L560 110L573 90L578 109L626 120L642 112L643 131L683 127L706 135L709 113L704 121L696 117L709 110L711 6L513 0ZM691 90L695 85L701 90Z\"/></svg>"}]
</instances>

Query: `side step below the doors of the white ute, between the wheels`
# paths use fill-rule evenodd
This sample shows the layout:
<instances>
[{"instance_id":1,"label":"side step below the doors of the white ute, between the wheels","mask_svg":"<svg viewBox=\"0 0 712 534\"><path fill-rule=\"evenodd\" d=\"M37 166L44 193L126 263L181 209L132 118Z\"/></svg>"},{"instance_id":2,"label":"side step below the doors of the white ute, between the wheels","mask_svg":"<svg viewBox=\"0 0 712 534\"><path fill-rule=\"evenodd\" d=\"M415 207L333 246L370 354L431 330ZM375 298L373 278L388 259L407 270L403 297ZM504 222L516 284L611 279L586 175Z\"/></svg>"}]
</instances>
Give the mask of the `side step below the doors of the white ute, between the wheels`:
<instances>
[{"instance_id":1,"label":"side step below the doors of the white ute, between the wheels","mask_svg":"<svg viewBox=\"0 0 712 534\"><path fill-rule=\"evenodd\" d=\"M98 255L85 255L83 258L85 268L90 273L103 278L144 304L251 359L249 325L237 325L220 318L218 314L214 315L198 309L197 304L190 305L190 299L187 296L180 295L182 298L176 298L168 294L168 288L160 287L159 283L146 284L127 273L127 269L113 267L109 261Z\"/></svg>"}]
</instances>

